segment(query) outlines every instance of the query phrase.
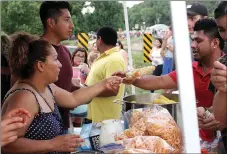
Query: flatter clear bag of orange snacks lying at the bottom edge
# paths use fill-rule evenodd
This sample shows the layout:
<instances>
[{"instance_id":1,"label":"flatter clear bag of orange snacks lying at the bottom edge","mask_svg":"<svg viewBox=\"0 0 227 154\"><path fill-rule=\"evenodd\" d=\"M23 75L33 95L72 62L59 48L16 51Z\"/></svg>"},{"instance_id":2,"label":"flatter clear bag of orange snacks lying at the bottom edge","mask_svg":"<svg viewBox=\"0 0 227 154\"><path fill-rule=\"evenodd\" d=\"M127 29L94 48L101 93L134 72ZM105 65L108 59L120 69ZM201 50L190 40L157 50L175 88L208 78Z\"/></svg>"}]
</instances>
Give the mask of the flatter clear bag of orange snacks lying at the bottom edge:
<instances>
[{"instance_id":1,"label":"flatter clear bag of orange snacks lying at the bottom edge","mask_svg":"<svg viewBox=\"0 0 227 154\"><path fill-rule=\"evenodd\" d=\"M174 149L158 136L136 136L123 140L125 149L148 150L146 153L173 153ZM145 151L144 151L145 153Z\"/></svg>"}]
</instances>

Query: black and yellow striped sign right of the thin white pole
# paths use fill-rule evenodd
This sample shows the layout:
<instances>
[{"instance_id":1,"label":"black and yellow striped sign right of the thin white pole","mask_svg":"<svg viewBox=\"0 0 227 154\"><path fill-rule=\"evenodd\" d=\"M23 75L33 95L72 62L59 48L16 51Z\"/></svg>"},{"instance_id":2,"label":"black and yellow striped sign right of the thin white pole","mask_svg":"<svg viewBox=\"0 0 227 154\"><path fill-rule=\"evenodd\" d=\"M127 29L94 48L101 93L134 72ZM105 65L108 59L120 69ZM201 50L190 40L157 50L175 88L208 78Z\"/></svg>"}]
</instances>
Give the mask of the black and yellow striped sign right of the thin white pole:
<instances>
[{"instance_id":1,"label":"black and yellow striped sign right of the thin white pole","mask_svg":"<svg viewBox=\"0 0 227 154\"><path fill-rule=\"evenodd\" d=\"M144 34L143 35L143 61L144 63L150 63L151 59L149 58L149 54L152 50L152 35Z\"/></svg>"}]
</instances>

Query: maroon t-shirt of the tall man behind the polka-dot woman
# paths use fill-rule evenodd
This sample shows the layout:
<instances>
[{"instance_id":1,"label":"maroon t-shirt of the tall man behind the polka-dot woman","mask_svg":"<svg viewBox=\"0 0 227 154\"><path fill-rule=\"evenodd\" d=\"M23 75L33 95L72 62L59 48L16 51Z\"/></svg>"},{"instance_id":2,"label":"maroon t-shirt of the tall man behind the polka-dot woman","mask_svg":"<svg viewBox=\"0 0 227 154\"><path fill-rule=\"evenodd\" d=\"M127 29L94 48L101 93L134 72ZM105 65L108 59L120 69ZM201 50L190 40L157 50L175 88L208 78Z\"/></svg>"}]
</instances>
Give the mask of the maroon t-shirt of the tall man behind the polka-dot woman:
<instances>
[{"instance_id":1,"label":"maroon t-shirt of the tall man behind the polka-dot woman","mask_svg":"<svg viewBox=\"0 0 227 154\"><path fill-rule=\"evenodd\" d=\"M60 70L58 81L55 84L69 92L72 90L72 63L71 63L71 54L69 50L63 45L53 45L55 50L58 53L58 60L62 64L62 68ZM59 111L63 120L63 124L65 128L69 128L69 109L59 107Z\"/></svg>"}]
</instances>

